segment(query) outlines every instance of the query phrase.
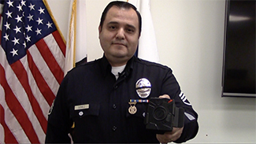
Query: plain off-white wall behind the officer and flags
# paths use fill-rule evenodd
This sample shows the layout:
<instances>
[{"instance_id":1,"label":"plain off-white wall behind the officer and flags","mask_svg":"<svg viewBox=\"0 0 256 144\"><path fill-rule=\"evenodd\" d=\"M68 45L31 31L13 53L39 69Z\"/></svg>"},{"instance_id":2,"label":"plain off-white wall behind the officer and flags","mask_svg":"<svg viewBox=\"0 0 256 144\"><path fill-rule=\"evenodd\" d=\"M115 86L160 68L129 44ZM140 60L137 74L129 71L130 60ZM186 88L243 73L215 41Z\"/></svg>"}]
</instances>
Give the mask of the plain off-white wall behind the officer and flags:
<instances>
[{"instance_id":1,"label":"plain off-white wall behind the officer and flags","mask_svg":"<svg viewBox=\"0 0 256 144\"><path fill-rule=\"evenodd\" d=\"M48 0L66 38L69 0ZM87 0L89 61L102 57L98 24L110 0ZM160 62L173 68L198 112L188 143L256 143L255 98L221 98L224 0L151 0Z\"/></svg>"}]
</instances>

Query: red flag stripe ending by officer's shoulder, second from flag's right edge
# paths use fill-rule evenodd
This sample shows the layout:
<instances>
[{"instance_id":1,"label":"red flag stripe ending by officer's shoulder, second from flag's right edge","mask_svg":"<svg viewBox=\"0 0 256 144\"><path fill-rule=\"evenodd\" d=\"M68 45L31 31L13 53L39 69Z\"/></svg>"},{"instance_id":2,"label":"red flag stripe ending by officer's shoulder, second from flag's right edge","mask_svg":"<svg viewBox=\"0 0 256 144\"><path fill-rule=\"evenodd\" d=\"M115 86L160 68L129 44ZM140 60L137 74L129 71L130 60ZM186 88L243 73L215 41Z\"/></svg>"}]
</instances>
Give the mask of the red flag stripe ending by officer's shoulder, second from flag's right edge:
<instances>
[{"instance_id":1,"label":"red flag stripe ending by officer's shoulder, second from flag's right edge","mask_svg":"<svg viewBox=\"0 0 256 144\"><path fill-rule=\"evenodd\" d=\"M43 39L40 39L35 43L35 46L37 46L40 54L42 55L44 61L46 61L46 64L50 68L50 71L53 73L55 79L57 79L58 83L61 84L64 72L62 72L62 69L55 60L54 55L50 52L46 42L44 42Z\"/></svg>"}]
</instances>

